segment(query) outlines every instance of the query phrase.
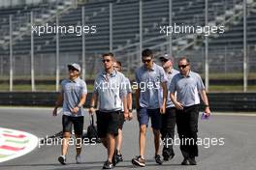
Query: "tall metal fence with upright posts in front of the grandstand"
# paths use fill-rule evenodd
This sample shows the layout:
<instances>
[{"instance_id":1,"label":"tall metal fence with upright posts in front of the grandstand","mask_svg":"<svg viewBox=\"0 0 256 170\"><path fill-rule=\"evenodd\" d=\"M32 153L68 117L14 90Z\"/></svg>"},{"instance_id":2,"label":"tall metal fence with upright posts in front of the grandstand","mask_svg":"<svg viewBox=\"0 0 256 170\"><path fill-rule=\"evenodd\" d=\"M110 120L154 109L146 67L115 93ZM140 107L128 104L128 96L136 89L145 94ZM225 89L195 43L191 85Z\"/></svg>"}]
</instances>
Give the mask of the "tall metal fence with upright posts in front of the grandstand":
<instances>
[{"instance_id":1,"label":"tall metal fence with upright posts in front of the grandstand","mask_svg":"<svg viewBox=\"0 0 256 170\"><path fill-rule=\"evenodd\" d=\"M4 33L0 36L0 91L58 91L60 80L67 75L67 64L74 62L82 66L83 79L93 80L102 68L100 56L104 51L113 51L123 64L124 73L133 79L135 69L142 64L141 51L145 47L153 49L156 57L165 53L173 54L175 59L188 56L193 71L202 74L209 91L256 90L255 1L187 0L182 4L176 0L106 0L92 5L83 2L69 9L68 2L62 2L67 6L55 3L48 9L41 4L37 10L0 15L0 30ZM50 14L52 8L59 11ZM68 10L61 13L65 9ZM40 41L31 31L37 21L46 24L44 19L52 17L48 20L51 25L68 24L68 18L72 20L76 14L78 25L96 23L98 33L71 38L51 34ZM220 24L225 26L225 33L160 33L160 26L176 23ZM130 27L131 32L125 27ZM101 40L104 44L99 48L94 43Z\"/></svg>"}]
</instances>

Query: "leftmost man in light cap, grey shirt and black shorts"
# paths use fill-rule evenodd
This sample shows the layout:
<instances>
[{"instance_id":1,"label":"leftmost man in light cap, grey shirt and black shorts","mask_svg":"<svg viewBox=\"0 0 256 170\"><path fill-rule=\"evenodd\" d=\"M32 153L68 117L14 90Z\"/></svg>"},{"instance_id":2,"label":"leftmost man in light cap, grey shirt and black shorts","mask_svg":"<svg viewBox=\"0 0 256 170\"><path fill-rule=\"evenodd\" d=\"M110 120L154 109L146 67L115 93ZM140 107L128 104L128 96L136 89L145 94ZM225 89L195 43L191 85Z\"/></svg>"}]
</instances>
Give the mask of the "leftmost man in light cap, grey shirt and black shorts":
<instances>
[{"instance_id":1,"label":"leftmost man in light cap, grey shirt and black shorts","mask_svg":"<svg viewBox=\"0 0 256 170\"><path fill-rule=\"evenodd\" d=\"M68 65L69 79L61 82L61 90L56 101L56 106L52 112L53 116L57 116L57 108L62 105L63 116L63 141L62 155L58 157L61 164L66 164L66 155L68 152L69 139L71 137L72 125L74 125L76 135L77 163L81 162L81 136L83 131L83 115L82 105L86 100L87 87L86 83L80 79L80 65L74 63Z\"/></svg>"}]
</instances>

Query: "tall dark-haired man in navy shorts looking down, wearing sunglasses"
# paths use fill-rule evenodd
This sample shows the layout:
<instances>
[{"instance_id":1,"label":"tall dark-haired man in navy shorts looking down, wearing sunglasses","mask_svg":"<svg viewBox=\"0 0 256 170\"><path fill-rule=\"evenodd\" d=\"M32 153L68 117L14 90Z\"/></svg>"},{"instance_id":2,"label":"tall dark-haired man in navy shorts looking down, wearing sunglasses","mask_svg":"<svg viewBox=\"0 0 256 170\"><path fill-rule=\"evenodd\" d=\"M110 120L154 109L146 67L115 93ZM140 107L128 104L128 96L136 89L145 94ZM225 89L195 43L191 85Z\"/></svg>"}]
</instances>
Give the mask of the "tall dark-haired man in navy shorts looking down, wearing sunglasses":
<instances>
[{"instance_id":1,"label":"tall dark-haired man in navy shorts looking down, wearing sunglasses","mask_svg":"<svg viewBox=\"0 0 256 170\"><path fill-rule=\"evenodd\" d=\"M145 166L144 148L145 148L145 132L149 119L154 134L155 161L162 164L161 156L159 156L160 148L160 128L161 114L165 113L167 98L167 78L162 67L153 62L153 52L150 49L144 49L142 60L144 66L136 71L136 81L139 88L136 90L136 108L137 118L140 125L139 146L140 156L132 159L132 163L137 166ZM144 85L144 89L142 88ZM159 104L158 93L159 88L163 89L163 103Z\"/></svg>"}]
</instances>

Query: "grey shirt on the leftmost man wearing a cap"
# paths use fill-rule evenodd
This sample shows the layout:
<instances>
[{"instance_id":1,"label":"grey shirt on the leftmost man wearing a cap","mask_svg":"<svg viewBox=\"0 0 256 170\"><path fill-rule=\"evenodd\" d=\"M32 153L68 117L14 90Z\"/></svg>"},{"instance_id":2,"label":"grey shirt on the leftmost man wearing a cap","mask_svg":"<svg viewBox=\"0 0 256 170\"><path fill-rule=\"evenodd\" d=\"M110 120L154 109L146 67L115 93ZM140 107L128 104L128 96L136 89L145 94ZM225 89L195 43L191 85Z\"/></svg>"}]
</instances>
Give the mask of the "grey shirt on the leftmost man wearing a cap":
<instances>
[{"instance_id":1,"label":"grey shirt on the leftmost man wearing a cap","mask_svg":"<svg viewBox=\"0 0 256 170\"><path fill-rule=\"evenodd\" d=\"M65 79L61 82L61 93L63 94L63 114L74 117L83 116L82 107L80 107L78 114L74 114L72 109L78 106L81 96L87 94L86 83L80 77L74 81Z\"/></svg>"}]
</instances>

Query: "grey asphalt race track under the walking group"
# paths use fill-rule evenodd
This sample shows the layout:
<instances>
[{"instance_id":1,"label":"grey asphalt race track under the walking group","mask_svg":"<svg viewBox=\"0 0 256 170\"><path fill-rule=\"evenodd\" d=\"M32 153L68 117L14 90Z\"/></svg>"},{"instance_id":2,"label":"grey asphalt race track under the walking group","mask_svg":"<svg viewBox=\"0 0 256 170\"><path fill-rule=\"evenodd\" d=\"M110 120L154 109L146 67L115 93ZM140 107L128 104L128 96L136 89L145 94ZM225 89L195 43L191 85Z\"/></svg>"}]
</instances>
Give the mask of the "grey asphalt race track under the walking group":
<instances>
[{"instance_id":1,"label":"grey asphalt race track under the walking group","mask_svg":"<svg viewBox=\"0 0 256 170\"><path fill-rule=\"evenodd\" d=\"M85 117L85 127L88 125ZM175 147L176 156L163 165L156 165L153 159L154 148L152 134L147 132L146 167L139 169L172 170L254 170L256 167L256 116L213 115L210 120L199 120L199 137L224 138L224 145L200 146L198 165L181 166L181 153ZM61 115L53 118L49 108L0 108L0 127L24 130L44 138L61 130ZM207 141L207 140L206 140ZM213 143L212 143L213 144ZM134 169L131 159L138 155L138 123L134 119L124 125L123 151L124 161L115 169ZM45 169L101 169L107 159L107 152L101 144L83 147L84 162L76 164L75 147L69 150L67 165L60 165L57 157L60 146L42 146L31 153L0 163L1 170L45 170Z\"/></svg>"}]
</instances>

